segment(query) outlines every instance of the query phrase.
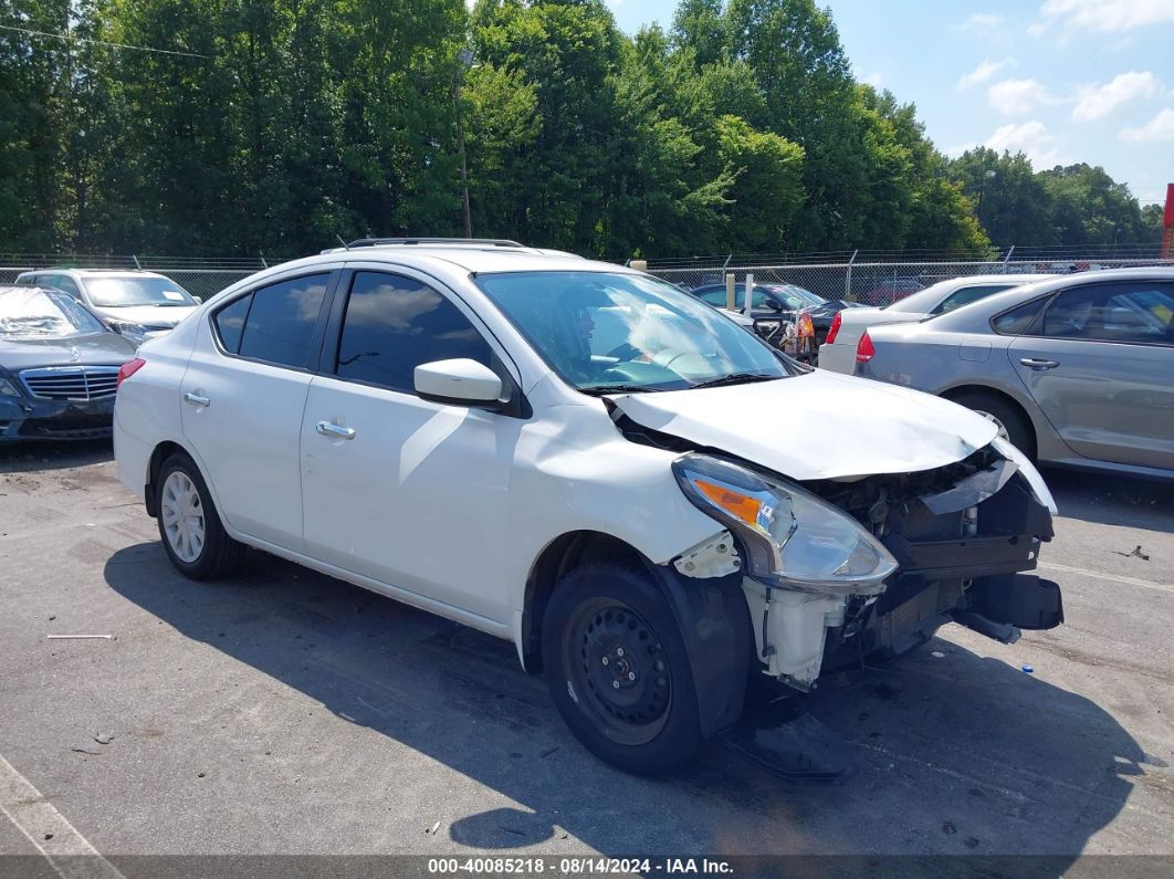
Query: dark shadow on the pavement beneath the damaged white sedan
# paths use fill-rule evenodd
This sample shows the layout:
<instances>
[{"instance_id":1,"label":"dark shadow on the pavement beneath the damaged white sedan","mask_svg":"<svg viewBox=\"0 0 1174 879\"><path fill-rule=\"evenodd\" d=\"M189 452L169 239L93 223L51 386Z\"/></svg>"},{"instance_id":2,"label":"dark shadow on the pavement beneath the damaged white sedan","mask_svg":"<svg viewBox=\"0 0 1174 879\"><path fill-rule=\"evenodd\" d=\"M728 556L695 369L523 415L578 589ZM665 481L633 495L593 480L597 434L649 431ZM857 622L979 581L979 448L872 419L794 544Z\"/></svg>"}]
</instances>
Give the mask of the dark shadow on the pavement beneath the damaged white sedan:
<instances>
[{"instance_id":1,"label":"dark shadow on the pavement beneath the damaged white sedan","mask_svg":"<svg viewBox=\"0 0 1174 879\"><path fill-rule=\"evenodd\" d=\"M615 857L1077 856L1145 772L1139 745L1093 702L935 640L803 697L856 749L859 771L842 785L790 785L717 745L680 777L634 778L579 746L504 641L261 553L243 576L193 583L140 543L104 576L185 637L513 800L450 816L440 832L473 848L569 833ZM349 759L331 752L330 771L346 777ZM405 766L403 784L424 771Z\"/></svg>"}]
</instances>

